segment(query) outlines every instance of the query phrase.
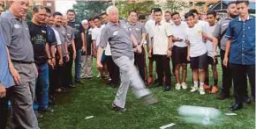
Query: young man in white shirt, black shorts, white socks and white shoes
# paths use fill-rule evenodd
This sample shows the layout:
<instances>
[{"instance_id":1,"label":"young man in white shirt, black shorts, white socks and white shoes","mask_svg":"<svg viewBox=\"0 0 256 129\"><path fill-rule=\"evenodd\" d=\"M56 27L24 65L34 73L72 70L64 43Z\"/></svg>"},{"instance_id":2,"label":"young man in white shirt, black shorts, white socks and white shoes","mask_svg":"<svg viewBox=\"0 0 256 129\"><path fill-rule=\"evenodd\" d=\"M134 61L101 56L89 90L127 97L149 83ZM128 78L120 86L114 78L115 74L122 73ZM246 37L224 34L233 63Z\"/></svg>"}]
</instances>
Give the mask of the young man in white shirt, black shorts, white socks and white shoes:
<instances>
[{"instance_id":1,"label":"young man in white shirt, black shorts, white socks and white shoes","mask_svg":"<svg viewBox=\"0 0 256 129\"><path fill-rule=\"evenodd\" d=\"M188 28L185 31L186 43L188 44L187 60L191 61L193 87L191 92L200 91L200 95L205 95L203 85L205 82L205 69L207 68L207 46L203 41L204 28L196 25L192 12L185 14ZM200 89L198 88L200 79Z\"/></svg>"}]
</instances>

